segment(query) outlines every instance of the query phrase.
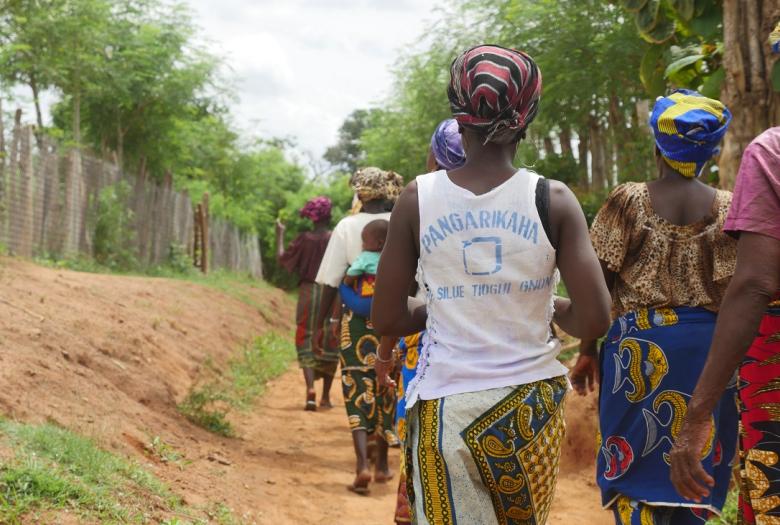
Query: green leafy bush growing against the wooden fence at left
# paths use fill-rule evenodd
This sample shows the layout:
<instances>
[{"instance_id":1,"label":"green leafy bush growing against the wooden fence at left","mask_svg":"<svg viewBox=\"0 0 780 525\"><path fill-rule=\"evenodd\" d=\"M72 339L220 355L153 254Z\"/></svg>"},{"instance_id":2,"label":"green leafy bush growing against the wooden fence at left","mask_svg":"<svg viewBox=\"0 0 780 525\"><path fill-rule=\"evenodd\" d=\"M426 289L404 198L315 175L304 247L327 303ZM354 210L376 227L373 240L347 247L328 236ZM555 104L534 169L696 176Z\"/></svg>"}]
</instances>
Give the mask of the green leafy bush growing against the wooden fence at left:
<instances>
[{"instance_id":1,"label":"green leafy bush growing against the wooden fence at left","mask_svg":"<svg viewBox=\"0 0 780 525\"><path fill-rule=\"evenodd\" d=\"M111 269L138 266L129 198L130 185L126 181L106 186L98 195L93 254L98 264Z\"/></svg>"}]
</instances>

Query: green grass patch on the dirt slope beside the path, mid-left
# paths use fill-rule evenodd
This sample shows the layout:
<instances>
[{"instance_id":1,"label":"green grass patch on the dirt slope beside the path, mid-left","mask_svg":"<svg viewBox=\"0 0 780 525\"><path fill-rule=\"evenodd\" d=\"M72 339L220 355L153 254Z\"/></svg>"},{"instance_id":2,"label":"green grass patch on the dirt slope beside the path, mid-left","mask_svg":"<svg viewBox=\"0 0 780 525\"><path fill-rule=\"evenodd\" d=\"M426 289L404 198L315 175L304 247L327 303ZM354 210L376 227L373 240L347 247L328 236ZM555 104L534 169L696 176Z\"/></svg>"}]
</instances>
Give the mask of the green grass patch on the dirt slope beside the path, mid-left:
<instances>
[{"instance_id":1,"label":"green grass patch on the dirt slope beside the path, mid-left","mask_svg":"<svg viewBox=\"0 0 780 525\"><path fill-rule=\"evenodd\" d=\"M269 332L246 345L220 374L208 376L179 405L179 412L196 425L222 436L235 436L228 414L246 410L265 391L266 383L284 372L295 358L291 338Z\"/></svg>"}]
</instances>

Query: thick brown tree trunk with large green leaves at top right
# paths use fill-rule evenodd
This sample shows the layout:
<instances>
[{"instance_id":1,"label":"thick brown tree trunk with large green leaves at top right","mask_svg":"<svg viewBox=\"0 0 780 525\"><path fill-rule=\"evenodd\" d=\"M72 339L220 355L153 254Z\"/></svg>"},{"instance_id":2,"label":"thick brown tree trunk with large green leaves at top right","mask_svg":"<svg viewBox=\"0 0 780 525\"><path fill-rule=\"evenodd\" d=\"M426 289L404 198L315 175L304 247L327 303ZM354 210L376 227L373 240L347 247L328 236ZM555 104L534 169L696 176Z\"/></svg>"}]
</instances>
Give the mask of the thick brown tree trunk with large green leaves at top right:
<instances>
[{"instance_id":1,"label":"thick brown tree trunk with large green leaves at top right","mask_svg":"<svg viewBox=\"0 0 780 525\"><path fill-rule=\"evenodd\" d=\"M652 43L640 76L653 96L686 87L720 98L733 114L720 156L720 185L734 185L744 148L780 124L780 66L768 37L776 0L622 0Z\"/></svg>"}]
</instances>

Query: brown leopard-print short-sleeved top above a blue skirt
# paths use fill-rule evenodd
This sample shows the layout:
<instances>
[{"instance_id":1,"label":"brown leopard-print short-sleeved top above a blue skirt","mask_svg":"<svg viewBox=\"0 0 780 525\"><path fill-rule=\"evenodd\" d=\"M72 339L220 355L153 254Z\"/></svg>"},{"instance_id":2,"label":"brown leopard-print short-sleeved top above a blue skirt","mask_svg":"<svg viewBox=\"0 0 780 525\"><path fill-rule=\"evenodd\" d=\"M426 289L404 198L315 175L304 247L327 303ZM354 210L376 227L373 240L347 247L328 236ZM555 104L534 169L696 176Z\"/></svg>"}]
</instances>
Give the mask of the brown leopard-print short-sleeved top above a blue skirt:
<instances>
[{"instance_id":1,"label":"brown leopard-print short-sleeved top above a blue skirt","mask_svg":"<svg viewBox=\"0 0 780 525\"><path fill-rule=\"evenodd\" d=\"M662 306L717 312L737 260L736 241L723 233L730 203L731 192L718 190L710 217L679 226L655 214L646 184L615 188L590 230L596 255L617 274L612 315Z\"/></svg>"}]
</instances>

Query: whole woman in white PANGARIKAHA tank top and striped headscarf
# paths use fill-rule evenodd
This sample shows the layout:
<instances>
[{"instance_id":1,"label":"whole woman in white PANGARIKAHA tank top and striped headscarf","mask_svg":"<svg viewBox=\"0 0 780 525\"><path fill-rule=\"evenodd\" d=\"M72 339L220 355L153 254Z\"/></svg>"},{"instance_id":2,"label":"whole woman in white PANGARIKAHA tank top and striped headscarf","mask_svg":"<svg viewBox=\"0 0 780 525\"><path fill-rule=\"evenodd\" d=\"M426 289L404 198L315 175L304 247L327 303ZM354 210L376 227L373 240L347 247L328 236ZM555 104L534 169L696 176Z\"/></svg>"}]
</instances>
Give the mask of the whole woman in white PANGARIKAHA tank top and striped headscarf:
<instances>
[{"instance_id":1,"label":"whole woman in white PANGARIKAHA tank top and striped headscarf","mask_svg":"<svg viewBox=\"0 0 780 525\"><path fill-rule=\"evenodd\" d=\"M407 391L413 521L542 524L568 388L550 322L578 337L600 334L609 294L571 191L512 166L538 108L534 61L479 46L453 62L451 75L467 161L404 190L372 319L382 335L427 329ZM424 303L406 297L418 261ZM558 270L571 300L554 299Z\"/></svg>"}]
</instances>

